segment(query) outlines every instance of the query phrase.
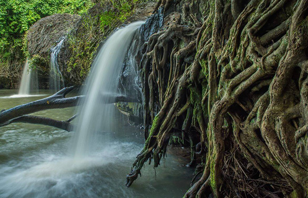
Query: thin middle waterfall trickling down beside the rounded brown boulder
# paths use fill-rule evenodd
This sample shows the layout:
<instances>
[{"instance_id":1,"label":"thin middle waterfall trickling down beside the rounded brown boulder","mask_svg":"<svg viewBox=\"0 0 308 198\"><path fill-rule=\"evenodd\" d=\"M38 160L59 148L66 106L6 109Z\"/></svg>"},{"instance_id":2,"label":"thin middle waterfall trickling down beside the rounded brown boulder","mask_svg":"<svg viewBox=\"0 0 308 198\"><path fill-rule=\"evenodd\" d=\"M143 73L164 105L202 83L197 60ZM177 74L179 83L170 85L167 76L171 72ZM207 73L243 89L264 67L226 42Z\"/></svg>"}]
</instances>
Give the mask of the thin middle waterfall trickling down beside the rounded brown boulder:
<instances>
[{"instance_id":1,"label":"thin middle waterfall trickling down beside the rounded brown boulder","mask_svg":"<svg viewBox=\"0 0 308 198\"><path fill-rule=\"evenodd\" d=\"M59 91L61 88L63 88L64 85L64 80L62 73L59 69L59 64L58 64L58 53L62 47L63 41L65 38L63 38L56 47L51 49L50 53L50 64L49 64L49 89L50 90L55 90Z\"/></svg>"}]
</instances>

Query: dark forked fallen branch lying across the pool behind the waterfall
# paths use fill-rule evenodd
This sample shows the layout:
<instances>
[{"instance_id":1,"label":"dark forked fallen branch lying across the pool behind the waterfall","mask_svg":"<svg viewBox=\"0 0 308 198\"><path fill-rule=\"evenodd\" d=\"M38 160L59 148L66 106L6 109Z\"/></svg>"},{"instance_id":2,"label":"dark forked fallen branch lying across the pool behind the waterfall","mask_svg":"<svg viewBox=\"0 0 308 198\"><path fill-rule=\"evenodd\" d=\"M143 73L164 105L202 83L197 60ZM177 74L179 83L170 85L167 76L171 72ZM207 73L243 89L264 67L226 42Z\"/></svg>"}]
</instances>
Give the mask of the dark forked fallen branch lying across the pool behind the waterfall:
<instances>
[{"instance_id":1,"label":"dark forked fallen branch lying across the pool behind the waterfall","mask_svg":"<svg viewBox=\"0 0 308 198\"><path fill-rule=\"evenodd\" d=\"M56 108L67 108L77 106L84 99L85 96L75 96L66 98L74 87L68 87L60 90L56 94L44 98L35 100L26 104L21 104L7 110L0 111L0 127L6 126L11 123L30 123L30 124L42 124L47 126L56 127L66 131L73 130L73 124L71 121L77 117L77 114L68 120L55 120L52 118L28 115L42 110L56 109ZM128 98L122 95L105 95L102 94L102 101L105 103L116 103L116 102L139 102L138 99Z\"/></svg>"}]
</instances>

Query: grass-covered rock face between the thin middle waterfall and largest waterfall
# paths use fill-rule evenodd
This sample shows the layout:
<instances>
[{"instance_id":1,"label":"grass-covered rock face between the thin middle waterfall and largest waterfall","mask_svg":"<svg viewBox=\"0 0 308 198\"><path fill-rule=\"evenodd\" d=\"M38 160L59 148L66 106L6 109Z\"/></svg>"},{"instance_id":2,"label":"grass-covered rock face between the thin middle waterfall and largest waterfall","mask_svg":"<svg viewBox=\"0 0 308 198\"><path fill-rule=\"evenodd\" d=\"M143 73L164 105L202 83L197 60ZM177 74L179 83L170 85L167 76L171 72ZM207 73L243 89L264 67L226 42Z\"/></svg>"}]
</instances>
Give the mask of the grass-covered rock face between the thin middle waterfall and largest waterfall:
<instances>
[{"instance_id":1,"label":"grass-covered rock face between the thin middle waterfall and largest waterfall","mask_svg":"<svg viewBox=\"0 0 308 198\"><path fill-rule=\"evenodd\" d=\"M67 86L82 85L99 43L110 34L100 27L100 15L111 9L110 3L96 3L84 14L76 28L64 40L58 64Z\"/></svg>"}]
</instances>

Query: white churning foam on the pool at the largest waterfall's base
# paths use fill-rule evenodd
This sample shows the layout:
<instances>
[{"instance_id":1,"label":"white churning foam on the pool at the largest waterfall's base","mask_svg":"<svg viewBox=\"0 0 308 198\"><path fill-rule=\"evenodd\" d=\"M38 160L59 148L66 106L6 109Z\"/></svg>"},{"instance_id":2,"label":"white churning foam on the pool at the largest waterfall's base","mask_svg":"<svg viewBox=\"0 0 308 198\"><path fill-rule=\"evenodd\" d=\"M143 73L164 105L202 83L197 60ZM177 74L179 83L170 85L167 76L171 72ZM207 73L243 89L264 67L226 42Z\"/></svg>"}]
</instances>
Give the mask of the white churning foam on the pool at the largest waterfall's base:
<instances>
[{"instance_id":1,"label":"white churning foam on the pool at the largest waterfall's base","mask_svg":"<svg viewBox=\"0 0 308 198\"><path fill-rule=\"evenodd\" d=\"M83 185L91 181L89 176L103 179L105 182L101 186L108 185L108 178L95 176L98 174L97 168L121 165L136 155L139 149L133 143L113 142L91 157L69 158L60 153L41 153L36 157L24 158L13 166L0 168L0 197L71 197L74 191L78 192L79 197L86 194L88 197L99 197L92 189L80 191Z\"/></svg>"}]
</instances>

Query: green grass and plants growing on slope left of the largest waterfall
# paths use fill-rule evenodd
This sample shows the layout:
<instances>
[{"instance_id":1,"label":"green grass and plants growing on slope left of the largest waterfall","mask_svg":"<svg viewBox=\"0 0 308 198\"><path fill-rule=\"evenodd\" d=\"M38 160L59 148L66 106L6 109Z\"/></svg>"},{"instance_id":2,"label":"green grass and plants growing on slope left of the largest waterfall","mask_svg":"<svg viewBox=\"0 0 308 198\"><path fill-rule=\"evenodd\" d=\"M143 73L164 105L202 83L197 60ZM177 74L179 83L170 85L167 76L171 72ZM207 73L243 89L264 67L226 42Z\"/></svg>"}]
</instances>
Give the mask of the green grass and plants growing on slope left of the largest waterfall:
<instances>
[{"instance_id":1,"label":"green grass and plants growing on slope left of the largest waterfall","mask_svg":"<svg viewBox=\"0 0 308 198\"><path fill-rule=\"evenodd\" d=\"M141 1L146 0L100 0L100 5L93 7L98 10L84 14L82 27L68 37L72 54L67 62L67 71L78 74L80 79L85 78L99 43L132 15L134 5ZM107 11L101 11L105 8Z\"/></svg>"}]
</instances>

